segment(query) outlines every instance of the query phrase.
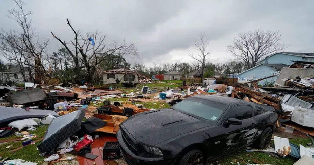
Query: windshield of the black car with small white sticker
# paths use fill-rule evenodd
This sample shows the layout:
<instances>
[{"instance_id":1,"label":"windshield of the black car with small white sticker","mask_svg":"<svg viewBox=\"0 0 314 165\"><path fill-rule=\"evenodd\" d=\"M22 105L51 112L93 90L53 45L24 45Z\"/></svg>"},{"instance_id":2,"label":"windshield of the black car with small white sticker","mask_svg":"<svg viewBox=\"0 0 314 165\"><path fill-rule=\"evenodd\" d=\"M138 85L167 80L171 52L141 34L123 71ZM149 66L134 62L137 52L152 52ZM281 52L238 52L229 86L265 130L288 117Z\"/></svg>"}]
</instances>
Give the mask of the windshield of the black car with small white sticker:
<instances>
[{"instance_id":1,"label":"windshield of the black car with small white sticker","mask_svg":"<svg viewBox=\"0 0 314 165\"><path fill-rule=\"evenodd\" d=\"M207 99L187 98L173 105L172 108L217 123L228 105Z\"/></svg>"}]
</instances>

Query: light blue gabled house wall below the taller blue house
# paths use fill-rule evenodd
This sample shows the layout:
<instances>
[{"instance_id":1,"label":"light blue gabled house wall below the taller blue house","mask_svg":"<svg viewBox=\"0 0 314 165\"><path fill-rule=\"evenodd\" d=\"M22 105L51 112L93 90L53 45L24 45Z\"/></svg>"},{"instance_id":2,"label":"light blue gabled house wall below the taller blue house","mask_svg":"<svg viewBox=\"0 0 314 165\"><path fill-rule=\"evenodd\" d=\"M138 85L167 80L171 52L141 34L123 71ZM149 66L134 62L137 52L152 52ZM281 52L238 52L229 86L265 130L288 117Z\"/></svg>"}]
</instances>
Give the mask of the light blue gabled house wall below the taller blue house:
<instances>
[{"instance_id":1,"label":"light blue gabled house wall below the taller blue house","mask_svg":"<svg viewBox=\"0 0 314 165\"><path fill-rule=\"evenodd\" d=\"M271 75L278 75L283 67L289 67L286 64L259 64L246 71L238 74L238 82L249 82L252 80L268 77ZM271 77L268 79L261 80L260 82L265 85L266 82L274 83L277 77Z\"/></svg>"}]
</instances>

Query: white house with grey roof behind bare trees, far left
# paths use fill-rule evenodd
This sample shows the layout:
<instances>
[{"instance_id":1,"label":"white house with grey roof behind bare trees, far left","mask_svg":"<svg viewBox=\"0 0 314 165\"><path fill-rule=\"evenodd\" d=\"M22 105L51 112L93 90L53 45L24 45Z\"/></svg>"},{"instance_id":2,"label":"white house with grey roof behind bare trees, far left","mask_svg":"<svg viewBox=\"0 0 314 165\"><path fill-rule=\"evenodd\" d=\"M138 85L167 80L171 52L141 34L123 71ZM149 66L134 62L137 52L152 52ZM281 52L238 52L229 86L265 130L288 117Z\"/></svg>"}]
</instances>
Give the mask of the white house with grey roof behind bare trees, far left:
<instances>
[{"instance_id":1,"label":"white house with grey roof behind bare trees, far left","mask_svg":"<svg viewBox=\"0 0 314 165\"><path fill-rule=\"evenodd\" d=\"M20 72L20 67L15 65L7 65L5 72L0 72L0 83L13 82L13 83L24 83L24 77ZM25 77L29 78L27 68L25 70Z\"/></svg>"}]
</instances>

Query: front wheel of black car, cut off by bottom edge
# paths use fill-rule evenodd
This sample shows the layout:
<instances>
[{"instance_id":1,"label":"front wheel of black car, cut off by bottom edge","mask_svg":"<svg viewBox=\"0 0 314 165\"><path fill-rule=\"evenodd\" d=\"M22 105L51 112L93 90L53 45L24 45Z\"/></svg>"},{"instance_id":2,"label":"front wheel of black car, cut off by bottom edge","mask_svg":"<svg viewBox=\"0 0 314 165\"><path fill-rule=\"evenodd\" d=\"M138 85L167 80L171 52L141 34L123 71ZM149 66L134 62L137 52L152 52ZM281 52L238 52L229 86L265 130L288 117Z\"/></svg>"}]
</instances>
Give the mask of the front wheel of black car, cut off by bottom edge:
<instances>
[{"instance_id":1,"label":"front wheel of black car, cut off by bottom edge","mask_svg":"<svg viewBox=\"0 0 314 165\"><path fill-rule=\"evenodd\" d=\"M182 157L179 165L203 165L204 156L200 150L192 150Z\"/></svg>"}]
</instances>

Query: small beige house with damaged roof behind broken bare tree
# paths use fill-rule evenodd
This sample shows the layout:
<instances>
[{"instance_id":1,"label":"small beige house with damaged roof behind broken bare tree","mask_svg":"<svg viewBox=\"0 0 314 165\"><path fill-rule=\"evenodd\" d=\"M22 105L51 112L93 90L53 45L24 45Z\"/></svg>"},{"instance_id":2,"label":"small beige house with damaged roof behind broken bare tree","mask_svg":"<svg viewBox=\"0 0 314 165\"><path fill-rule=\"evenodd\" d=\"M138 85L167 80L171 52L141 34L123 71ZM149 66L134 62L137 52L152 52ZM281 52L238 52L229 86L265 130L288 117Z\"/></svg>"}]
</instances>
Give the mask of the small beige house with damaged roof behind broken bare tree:
<instances>
[{"instance_id":1,"label":"small beige house with damaged roof behind broken bare tree","mask_svg":"<svg viewBox=\"0 0 314 165\"><path fill-rule=\"evenodd\" d=\"M127 68L119 68L119 69L113 69L109 71L104 71L102 80L103 84L111 84L116 83L116 79L124 83L138 83L139 80L139 73L136 73L134 71L131 71Z\"/></svg>"}]
</instances>

